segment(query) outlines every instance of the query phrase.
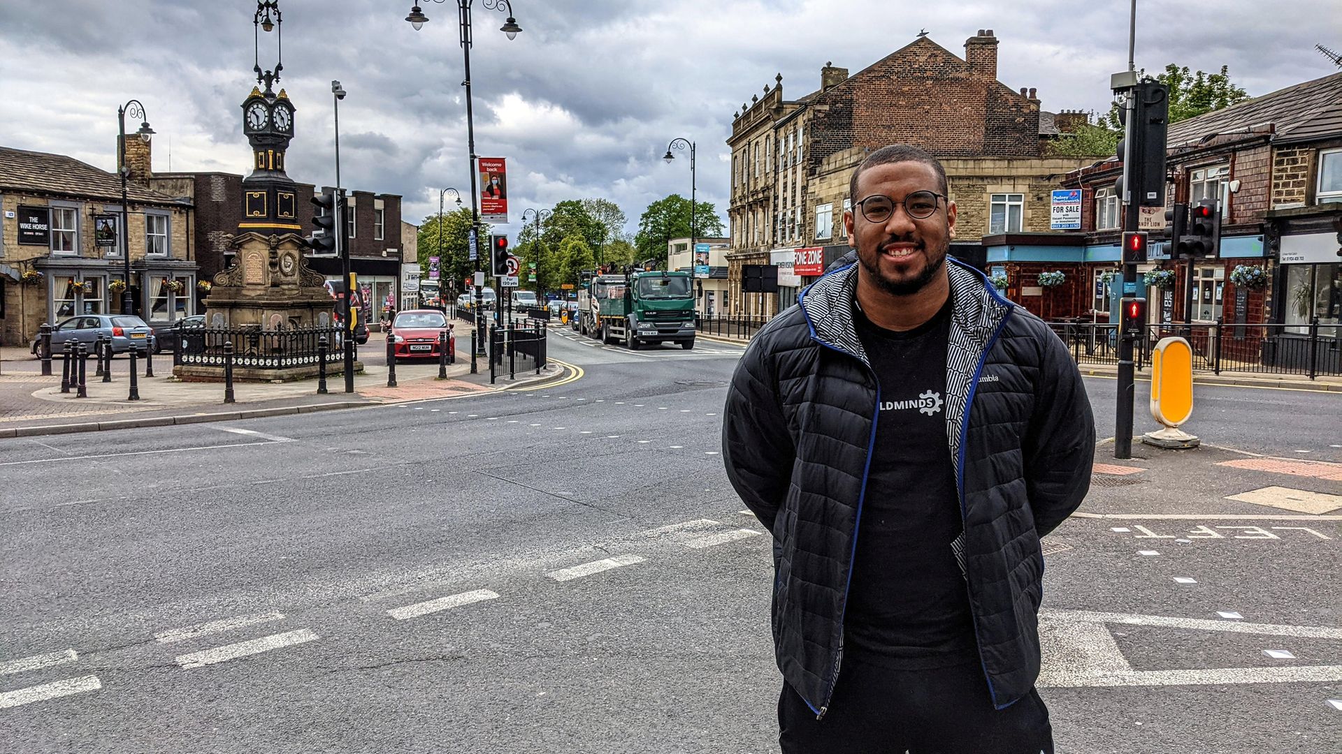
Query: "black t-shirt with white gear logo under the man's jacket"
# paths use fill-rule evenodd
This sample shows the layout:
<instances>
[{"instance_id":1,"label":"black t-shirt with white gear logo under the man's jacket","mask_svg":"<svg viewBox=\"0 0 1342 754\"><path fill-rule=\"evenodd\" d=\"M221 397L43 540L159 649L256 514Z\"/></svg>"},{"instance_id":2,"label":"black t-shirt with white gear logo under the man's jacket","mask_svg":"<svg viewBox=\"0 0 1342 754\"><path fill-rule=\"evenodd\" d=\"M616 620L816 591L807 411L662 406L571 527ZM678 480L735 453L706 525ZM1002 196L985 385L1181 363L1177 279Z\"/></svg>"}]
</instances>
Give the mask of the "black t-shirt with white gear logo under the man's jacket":
<instances>
[{"instance_id":1,"label":"black t-shirt with white gear logo under the man's jacket","mask_svg":"<svg viewBox=\"0 0 1342 754\"><path fill-rule=\"evenodd\" d=\"M844 616L845 651L899 669L974 661L965 578L950 542L960 495L946 440L950 301L914 330L886 330L856 313L858 337L880 385Z\"/></svg>"}]
</instances>

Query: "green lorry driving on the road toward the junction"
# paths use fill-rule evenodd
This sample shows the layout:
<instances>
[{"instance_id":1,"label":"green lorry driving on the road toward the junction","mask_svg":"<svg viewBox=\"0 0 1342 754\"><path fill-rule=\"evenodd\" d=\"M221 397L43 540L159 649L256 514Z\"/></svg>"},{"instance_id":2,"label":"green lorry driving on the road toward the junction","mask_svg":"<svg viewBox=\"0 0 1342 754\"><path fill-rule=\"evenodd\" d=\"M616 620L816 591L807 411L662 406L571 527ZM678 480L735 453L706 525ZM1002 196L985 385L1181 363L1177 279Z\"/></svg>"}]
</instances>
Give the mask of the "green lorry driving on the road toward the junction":
<instances>
[{"instance_id":1,"label":"green lorry driving on the road toward the junction","mask_svg":"<svg viewBox=\"0 0 1342 754\"><path fill-rule=\"evenodd\" d=\"M593 275L578 292L578 331L604 343L694 347L694 280L688 272Z\"/></svg>"}]
</instances>

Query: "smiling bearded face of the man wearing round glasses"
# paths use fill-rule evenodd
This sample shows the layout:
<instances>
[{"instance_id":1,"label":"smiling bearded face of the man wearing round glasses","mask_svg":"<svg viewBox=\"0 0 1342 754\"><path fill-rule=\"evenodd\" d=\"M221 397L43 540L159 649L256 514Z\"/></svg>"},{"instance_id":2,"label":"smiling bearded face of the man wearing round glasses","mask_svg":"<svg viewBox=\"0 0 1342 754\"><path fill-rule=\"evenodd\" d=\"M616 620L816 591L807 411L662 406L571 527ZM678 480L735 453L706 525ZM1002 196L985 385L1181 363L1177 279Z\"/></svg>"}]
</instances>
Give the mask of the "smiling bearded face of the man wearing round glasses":
<instances>
[{"instance_id":1,"label":"smiling bearded face of the man wearing round glasses","mask_svg":"<svg viewBox=\"0 0 1342 754\"><path fill-rule=\"evenodd\" d=\"M848 246L858 250L867 279L892 295L911 295L927 286L946 262L956 237L956 204L937 197L937 211L925 219L911 217L903 204L883 223L863 216L859 203L884 195L905 201L914 192L941 193L941 178L926 162L874 165L858 176L858 196L844 212Z\"/></svg>"}]
</instances>

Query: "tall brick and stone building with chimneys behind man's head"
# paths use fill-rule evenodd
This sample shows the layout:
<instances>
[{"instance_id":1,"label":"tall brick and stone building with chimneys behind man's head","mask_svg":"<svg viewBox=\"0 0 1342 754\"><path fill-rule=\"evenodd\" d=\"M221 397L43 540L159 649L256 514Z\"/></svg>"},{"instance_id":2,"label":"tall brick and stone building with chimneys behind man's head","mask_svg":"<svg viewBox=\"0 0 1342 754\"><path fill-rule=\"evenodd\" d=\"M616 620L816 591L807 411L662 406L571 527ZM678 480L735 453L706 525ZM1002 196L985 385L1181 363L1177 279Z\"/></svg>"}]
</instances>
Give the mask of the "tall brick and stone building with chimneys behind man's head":
<instances>
[{"instance_id":1,"label":"tall brick and stone building with chimneys behind man's head","mask_svg":"<svg viewBox=\"0 0 1342 754\"><path fill-rule=\"evenodd\" d=\"M848 180L888 144L921 146L943 162L960 208L956 256L982 264L980 236L1048 228L1049 192L1090 161L1052 157L1048 142L1084 115L1043 113L1036 90L1002 85L997 44L980 30L960 58L919 36L851 76L827 63L820 89L800 99L784 98L778 75L742 105L727 140L733 314L774 314L847 254ZM742 264L788 262L794 272L781 278L778 297L739 295Z\"/></svg>"}]
</instances>

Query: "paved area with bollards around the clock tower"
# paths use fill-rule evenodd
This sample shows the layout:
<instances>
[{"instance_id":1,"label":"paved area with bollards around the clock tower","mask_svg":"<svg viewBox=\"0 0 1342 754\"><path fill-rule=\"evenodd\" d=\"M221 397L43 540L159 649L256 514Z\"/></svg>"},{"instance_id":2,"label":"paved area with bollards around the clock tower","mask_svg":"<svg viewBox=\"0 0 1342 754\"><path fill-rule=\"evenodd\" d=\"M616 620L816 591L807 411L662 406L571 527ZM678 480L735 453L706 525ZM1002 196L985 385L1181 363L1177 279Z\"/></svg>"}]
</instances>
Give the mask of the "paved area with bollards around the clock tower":
<instances>
[{"instance_id":1,"label":"paved area with bollards around the clock tower","mask_svg":"<svg viewBox=\"0 0 1342 754\"><path fill-rule=\"evenodd\" d=\"M40 361L25 347L0 347L0 437L93 432L133 427L161 427L228 421L258 416L309 413L369 404L388 404L464 396L482 390L550 380L561 376L564 366L552 364L541 374L519 373L515 380L498 377L491 386L488 364L478 360L479 373L471 374L470 327L458 334L458 357L440 380L437 362L399 364L397 386L386 386L385 335L373 333L360 346L364 370L354 377L354 390L345 392L345 378L327 378L327 393L317 393L317 380L294 382L235 382L235 401L224 402L223 382L185 382L172 377L172 357L153 360L154 376L144 376L138 364L140 400L129 400L130 361L113 360L111 382L95 377L95 361L87 365L89 397L75 397L75 390L60 392L60 361L52 360L52 376L43 377Z\"/></svg>"}]
</instances>

